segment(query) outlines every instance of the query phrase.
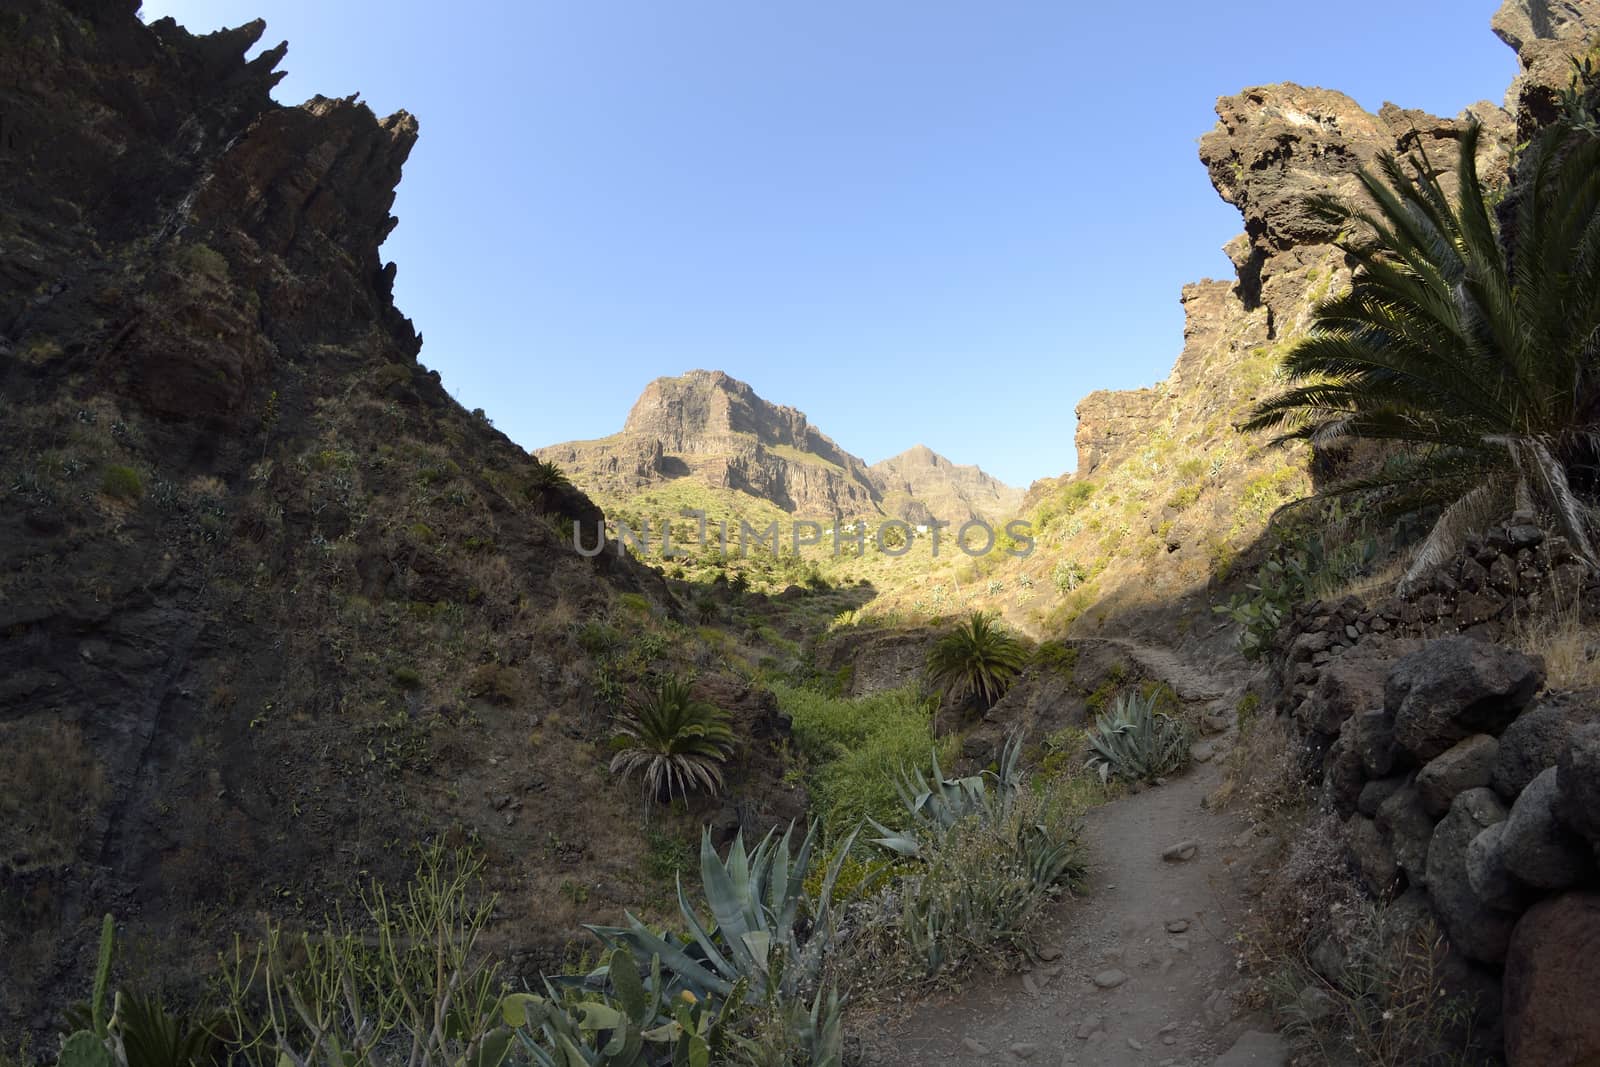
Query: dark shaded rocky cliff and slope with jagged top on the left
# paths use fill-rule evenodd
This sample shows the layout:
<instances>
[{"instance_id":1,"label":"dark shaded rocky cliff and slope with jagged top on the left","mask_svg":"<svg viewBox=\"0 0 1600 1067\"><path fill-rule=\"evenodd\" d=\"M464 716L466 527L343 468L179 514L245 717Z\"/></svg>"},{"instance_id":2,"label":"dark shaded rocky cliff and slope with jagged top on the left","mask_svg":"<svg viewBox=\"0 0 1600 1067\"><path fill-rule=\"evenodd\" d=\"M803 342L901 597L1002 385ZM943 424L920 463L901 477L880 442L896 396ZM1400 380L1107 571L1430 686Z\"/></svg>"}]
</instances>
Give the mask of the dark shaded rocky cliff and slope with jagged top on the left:
<instances>
[{"instance_id":1,"label":"dark shaded rocky cliff and slope with jagged top on the left","mask_svg":"<svg viewBox=\"0 0 1600 1067\"><path fill-rule=\"evenodd\" d=\"M0 1033L59 1021L102 912L181 984L434 837L554 958L558 886L582 918L659 893L576 632L613 686L693 638L630 651L659 579L579 557L598 509L418 363L378 251L418 122L278 106L261 22L136 8L0 10ZM702 685L771 809L770 697Z\"/></svg>"}]
</instances>

